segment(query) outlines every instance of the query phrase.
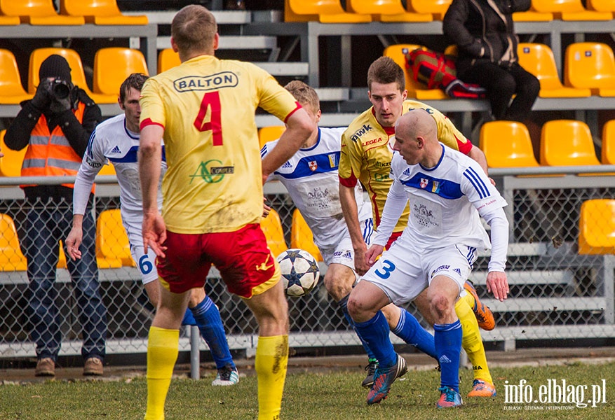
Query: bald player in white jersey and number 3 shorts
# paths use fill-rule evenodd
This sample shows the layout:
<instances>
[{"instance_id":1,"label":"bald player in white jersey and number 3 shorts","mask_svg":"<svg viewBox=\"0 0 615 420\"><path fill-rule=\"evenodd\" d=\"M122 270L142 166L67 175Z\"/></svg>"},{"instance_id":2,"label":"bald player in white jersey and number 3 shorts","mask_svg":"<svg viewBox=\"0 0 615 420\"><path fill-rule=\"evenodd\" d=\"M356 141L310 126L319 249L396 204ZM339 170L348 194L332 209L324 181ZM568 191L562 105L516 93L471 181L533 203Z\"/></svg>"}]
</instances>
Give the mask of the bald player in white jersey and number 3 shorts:
<instances>
[{"instance_id":1,"label":"bald player in white jersey and number 3 shorts","mask_svg":"<svg viewBox=\"0 0 615 420\"><path fill-rule=\"evenodd\" d=\"M348 305L356 330L380 363L367 404L386 398L398 370L405 366L388 339L388 325L380 308L389 302L413 300L427 289L441 368L437 407L457 407L461 405L461 323L454 304L464 290L476 249L489 248L479 215L487 221L492 235L487 290L496 299L506 299L506 201L475 161L438 141L435 122L422 109L398 119L393 150L398 152L391 161L393 184L379 230L366 253L372 267L353 289ZM376 260L408 200L407 227Z\"/></svg>"}]
</instances>

